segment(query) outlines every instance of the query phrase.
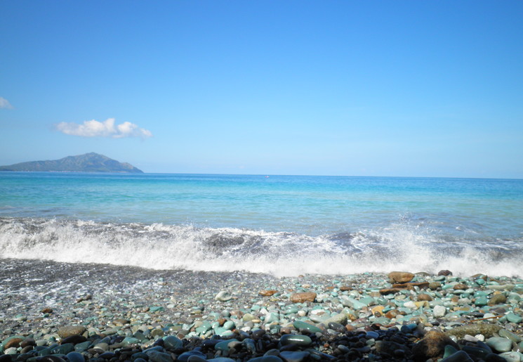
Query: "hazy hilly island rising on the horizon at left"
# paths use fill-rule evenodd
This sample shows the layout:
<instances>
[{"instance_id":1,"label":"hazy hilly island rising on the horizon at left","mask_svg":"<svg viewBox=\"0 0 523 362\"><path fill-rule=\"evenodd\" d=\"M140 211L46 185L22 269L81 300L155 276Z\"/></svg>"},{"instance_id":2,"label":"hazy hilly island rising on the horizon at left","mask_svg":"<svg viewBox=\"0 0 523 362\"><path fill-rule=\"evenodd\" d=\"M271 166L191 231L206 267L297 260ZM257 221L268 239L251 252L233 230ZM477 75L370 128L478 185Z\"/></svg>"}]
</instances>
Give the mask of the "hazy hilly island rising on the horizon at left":
<instances>
[{"instance_id":1,"label":"hazy hilly island rising on the horizon at left","mask_svg":"<svg viewBox=\"0 0 523 362\"><path fill-rule=\"evenodd\" d=\"M131 172L143 174L132 164L118 162L98 153L67 156L60 160L33 161L0 166L0 171L38 171L38 172Z\"/></svg>"}]
</instances>

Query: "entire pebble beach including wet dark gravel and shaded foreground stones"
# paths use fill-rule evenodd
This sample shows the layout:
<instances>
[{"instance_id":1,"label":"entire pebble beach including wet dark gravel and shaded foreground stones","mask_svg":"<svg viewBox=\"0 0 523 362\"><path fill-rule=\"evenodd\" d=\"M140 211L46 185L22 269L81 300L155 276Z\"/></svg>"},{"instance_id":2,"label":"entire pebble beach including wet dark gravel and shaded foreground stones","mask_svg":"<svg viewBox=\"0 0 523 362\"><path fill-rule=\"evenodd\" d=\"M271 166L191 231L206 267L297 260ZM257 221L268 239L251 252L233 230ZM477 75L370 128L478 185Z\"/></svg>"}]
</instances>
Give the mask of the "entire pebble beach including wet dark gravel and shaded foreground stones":
<instances>
[{"instance_id":1,"label":"entire pebble beach including wet dark gravel and shaded foreground stones","mask_svg":"<svg viewBox=\"0 0 523 362\"><path fill-rule=\"evenodd\" d=\"M523 279L3 259L0 362L523 361Z\"/></svg>"}]
</instances>

